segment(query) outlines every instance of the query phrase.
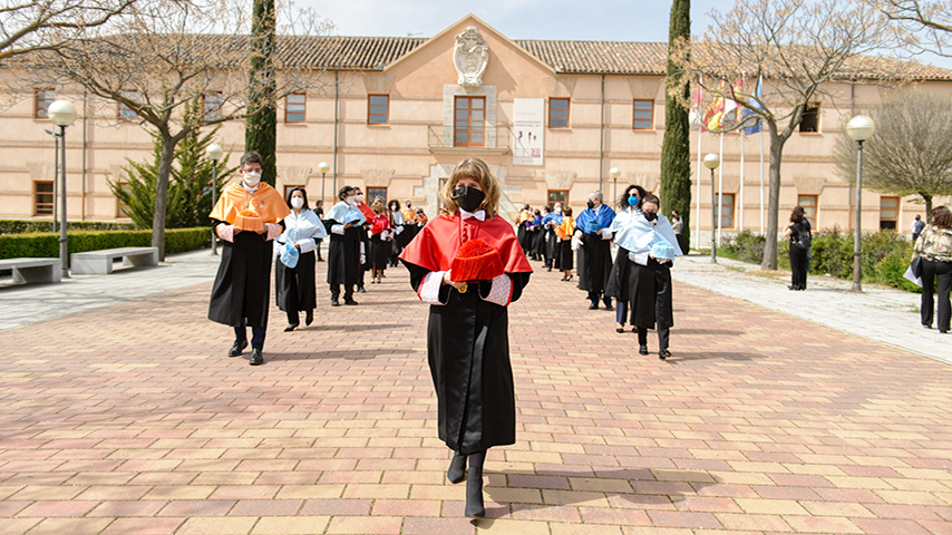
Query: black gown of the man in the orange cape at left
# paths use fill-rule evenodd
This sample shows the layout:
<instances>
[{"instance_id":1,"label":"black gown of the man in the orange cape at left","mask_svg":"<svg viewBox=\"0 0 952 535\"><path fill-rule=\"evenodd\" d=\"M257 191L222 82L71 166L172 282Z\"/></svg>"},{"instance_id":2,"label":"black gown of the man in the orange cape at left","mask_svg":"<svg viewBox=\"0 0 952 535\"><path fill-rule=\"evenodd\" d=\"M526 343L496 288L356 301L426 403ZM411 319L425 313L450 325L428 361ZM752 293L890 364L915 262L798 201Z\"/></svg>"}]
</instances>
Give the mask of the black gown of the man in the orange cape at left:
<instances>
[{"instance_id":1,"label":"black gown of the man in the orange cape at left","mask_svg":"<svg viewBox=\"0 0 952 535\"><path fill-rule=\"evenodd\" d=\"M222 222L213 220L213 228L218 224ZM208 304L210 320L237 327L246 318L249 327L268 325L273 245L265 237L244 231L235 232L234 243L222 242L222 262Z\"/></svg>"}]
</instances>

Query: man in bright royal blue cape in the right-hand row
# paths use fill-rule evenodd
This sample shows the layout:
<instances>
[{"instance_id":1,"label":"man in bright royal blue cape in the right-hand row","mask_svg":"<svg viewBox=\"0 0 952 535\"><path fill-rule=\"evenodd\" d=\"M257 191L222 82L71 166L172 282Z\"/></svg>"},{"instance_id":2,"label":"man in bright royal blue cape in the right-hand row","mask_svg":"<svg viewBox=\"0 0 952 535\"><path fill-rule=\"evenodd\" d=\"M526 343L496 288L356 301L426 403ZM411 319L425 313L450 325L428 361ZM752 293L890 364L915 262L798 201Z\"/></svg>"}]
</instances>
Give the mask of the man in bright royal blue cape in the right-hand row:
<instances>
[{"instance_id":1,"label":"man in bright royal blue cape in the right-hand row","mask_svg":"<svg viewBox=\"0 0 952 535\"><path fill-rule=\"evenodd\" d=\"M599 299L605 310L612 310L612 298L605 293L605 284L612 271L612 221L615 212L603 204L602 192L589 194L587 207L575 218L572 250L579 252L579 289L589 292L589 310L599 308Z\"/></svg>"}]
</instances>

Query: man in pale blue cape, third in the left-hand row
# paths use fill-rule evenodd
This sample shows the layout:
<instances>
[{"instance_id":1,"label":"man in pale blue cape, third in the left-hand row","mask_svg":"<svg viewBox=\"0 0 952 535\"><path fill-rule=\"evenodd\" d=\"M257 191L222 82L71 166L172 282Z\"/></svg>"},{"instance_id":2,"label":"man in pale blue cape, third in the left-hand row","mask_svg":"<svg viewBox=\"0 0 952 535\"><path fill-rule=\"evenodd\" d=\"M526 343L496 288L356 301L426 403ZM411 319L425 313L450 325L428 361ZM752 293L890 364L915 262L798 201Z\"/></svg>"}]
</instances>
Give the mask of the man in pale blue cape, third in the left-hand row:
<instances>
[{"instance_id":1,"label":"man in pale blue cape, third in the left-hand row","mask_svg":"<svg viewBox=\"0 0 952 535\"><path fill-rule=\"evenodd\" d=\"M343 186L338 192L339 203L333 205L324 218L330 231L328 246L328 285L331 291L331 307L340 305L340 286L343 285L343 303L357 304L353 300L353 286L357 284L360 269L360 235L363 233L363 213L357 207L353 188Z\"/></svg>"}]
</instances>

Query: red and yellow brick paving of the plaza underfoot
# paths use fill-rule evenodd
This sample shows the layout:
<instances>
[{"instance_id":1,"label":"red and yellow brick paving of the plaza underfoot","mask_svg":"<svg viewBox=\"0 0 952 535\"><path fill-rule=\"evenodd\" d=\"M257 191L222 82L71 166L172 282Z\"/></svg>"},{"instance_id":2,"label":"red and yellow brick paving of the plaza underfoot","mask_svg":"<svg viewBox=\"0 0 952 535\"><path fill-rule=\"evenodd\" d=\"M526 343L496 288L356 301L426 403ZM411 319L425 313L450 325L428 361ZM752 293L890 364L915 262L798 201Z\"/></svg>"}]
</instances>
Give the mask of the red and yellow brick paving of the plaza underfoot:
<instances>
[{"instance_id":1,"label":"red and yellow brick paving of the plaza underfoot","mask_svg":"<svg viewBox=\"0 0 952 535\"><path fill-rule=\"evenodd\" d=\"M272 308L259 368L210 282L0 332L0 534L952 534L949 364L684 284L660 361L560 276L511 308L485 519L400 268L360 307L319 285L311 328Z\"/></svg>"}]
</instances>

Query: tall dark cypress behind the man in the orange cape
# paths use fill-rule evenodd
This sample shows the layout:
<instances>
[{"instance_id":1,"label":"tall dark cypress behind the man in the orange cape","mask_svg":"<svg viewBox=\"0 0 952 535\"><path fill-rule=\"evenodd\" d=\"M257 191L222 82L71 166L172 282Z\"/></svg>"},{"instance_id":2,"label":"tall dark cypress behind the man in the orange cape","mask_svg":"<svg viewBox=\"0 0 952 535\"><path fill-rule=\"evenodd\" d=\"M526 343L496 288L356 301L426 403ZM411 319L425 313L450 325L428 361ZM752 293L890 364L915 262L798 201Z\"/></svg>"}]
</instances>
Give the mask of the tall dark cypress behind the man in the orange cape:
<instances>
[{"instance_id":1,"label":"tall dark cypress behind the man in the orange cape","mask_svg":"<svg viewBox=\"0 0 952 535\"><path fill-rule=\"evenodd\" d=\"M261 179L274 185L278 177L278 107L274 101L276 81L273 55L275 51L274 0L254 0L251 21L251 70L249 72L249 114L245 123L245 152L255 150L264 160Z\"/></svg>"}]
</instances>

